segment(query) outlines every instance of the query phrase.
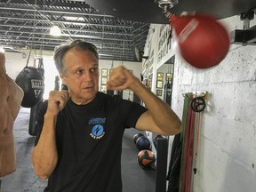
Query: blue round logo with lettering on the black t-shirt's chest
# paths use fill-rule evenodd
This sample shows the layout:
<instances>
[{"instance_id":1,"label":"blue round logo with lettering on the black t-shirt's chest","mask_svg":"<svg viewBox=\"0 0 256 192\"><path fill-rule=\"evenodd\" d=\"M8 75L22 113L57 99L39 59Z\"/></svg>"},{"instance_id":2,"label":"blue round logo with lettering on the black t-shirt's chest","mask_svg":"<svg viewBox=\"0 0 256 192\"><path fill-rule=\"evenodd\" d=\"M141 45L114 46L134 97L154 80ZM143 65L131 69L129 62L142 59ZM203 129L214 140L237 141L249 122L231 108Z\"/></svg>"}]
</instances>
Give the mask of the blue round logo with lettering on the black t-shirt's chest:
<instances>
[{"instance_id":1,"label":"blue round logo with lettering on the black t-shirt's chest","mask_svg":"<svg viewBox=\"0 0 256 192\"><path fill-rule=\"evenodd\" d=\"M89 121L89 124L95 124L92 126L92 132L90 133L90 136L95 140L100 140L105 132L103 124L106 122L106 117L104 118L92 118Z\"/></svg>"}]
</instances>

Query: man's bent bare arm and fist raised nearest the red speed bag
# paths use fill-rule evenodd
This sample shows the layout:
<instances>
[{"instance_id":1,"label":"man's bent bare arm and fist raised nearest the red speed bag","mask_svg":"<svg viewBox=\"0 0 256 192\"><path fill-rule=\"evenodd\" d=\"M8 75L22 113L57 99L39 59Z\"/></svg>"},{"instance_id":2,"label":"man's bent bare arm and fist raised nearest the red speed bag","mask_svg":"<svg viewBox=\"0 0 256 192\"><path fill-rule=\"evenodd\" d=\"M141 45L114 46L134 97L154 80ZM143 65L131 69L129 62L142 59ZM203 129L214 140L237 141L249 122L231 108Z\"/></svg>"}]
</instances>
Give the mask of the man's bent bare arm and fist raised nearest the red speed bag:
<instances>
[{"instance_id":1,"label":"man's bent bare arm and fist raised nearest the red speed bag","mask_svg":"<svg viewBox=\"0 0 256 192\"><path fill-rule=\"evenodd\" d=\"M148 111L140 116L136 124L137 129L162 135L173 135L181 131L180 118L172 108L150 92L123 66L113 69L107 85L109 90L131 89L140 100L143 100Z\"/></svg>"}]
</instances>

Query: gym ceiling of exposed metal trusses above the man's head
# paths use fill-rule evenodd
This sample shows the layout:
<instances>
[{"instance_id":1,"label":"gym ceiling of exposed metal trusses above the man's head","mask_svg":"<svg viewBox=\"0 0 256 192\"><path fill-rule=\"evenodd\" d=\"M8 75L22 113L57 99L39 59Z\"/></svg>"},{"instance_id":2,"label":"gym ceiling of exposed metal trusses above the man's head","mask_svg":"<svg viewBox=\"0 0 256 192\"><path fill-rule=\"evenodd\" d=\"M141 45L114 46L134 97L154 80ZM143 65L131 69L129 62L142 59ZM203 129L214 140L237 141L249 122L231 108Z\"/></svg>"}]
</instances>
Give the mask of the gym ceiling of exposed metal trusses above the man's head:
<instances>
[{"instance_id":1,"label":"gym ceiling of exposed metal trusses above the man's head","mask_svg":"<svg viewBox=\"0 0 256 192\"><path fill-rule=\"evenodd\" d=\"M58 26L61 36L51 36ZM134 47L144 49L149 24L103 14L83 0L1 0L0 45L6 52L53 51L67 41L95 44L101 60L137 61Z\"/></svg>"}]
</instances>

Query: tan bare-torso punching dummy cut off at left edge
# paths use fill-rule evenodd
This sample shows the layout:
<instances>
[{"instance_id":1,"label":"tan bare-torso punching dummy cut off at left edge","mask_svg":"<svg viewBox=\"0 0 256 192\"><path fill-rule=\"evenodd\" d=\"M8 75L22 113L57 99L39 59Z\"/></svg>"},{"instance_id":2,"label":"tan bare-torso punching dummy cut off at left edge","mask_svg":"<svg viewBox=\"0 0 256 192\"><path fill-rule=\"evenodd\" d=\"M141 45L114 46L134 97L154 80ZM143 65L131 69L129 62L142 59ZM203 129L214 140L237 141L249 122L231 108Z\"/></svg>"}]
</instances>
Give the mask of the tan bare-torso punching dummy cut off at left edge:
<instances>
[{"instance_id":1,"label":"tan bare-torso punching dummy cut off at left edge","mask_svg":"<svg viewBox=\"0 0 256 192\"><path fill-rule=\"evenodd\" d=\"M4 53L0 52L0 188L1 178L16 170L13 124L20 111L23 91L7 76Z\"/></svg>"}]
</instances>

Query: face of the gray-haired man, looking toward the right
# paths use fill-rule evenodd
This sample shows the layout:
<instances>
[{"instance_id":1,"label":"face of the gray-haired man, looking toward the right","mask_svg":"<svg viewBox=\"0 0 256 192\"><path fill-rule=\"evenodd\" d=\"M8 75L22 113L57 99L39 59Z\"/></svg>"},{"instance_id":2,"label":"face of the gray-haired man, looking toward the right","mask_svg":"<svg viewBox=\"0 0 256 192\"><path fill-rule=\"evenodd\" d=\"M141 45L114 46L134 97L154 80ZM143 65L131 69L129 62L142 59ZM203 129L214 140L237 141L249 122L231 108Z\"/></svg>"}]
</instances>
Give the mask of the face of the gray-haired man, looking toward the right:
<instances>
[{"instance_id":1,"label":"face of the gray-haired man, looking toward the right","mask_svg":"<svg viewBox=\"0 0 256 192\"><path fill-rule=\"evenodd\" d=\"M72 100L76 104L92 101L98 92L99 63L90 51L69 50L63 58L64 73L60 74L67 84Z\"/></svg>"}]
</instances>

